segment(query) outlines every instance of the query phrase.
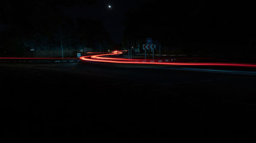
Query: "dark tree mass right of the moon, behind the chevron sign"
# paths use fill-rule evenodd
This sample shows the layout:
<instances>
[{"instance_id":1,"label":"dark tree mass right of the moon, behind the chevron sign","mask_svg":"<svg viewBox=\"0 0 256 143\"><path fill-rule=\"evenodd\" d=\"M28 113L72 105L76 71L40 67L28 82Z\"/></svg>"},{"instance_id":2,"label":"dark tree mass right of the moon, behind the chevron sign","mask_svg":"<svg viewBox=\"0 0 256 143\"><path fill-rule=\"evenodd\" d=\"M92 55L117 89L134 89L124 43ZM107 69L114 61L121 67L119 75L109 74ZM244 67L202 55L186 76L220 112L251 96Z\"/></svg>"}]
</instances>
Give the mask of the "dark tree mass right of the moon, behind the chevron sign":
<instances>
[{"instance_id":1,"label":"dark tree mass right of the moon, behind the chevron sign","mask_svg":"<svg viewBox=\"0 0 256 143\"><path fill-rule=\"evenodd\" d=\"M127 12L122 44L146 38L180 53L256 54L256 10L252 3L151 1Z\"/></svg>"}]
</instances>

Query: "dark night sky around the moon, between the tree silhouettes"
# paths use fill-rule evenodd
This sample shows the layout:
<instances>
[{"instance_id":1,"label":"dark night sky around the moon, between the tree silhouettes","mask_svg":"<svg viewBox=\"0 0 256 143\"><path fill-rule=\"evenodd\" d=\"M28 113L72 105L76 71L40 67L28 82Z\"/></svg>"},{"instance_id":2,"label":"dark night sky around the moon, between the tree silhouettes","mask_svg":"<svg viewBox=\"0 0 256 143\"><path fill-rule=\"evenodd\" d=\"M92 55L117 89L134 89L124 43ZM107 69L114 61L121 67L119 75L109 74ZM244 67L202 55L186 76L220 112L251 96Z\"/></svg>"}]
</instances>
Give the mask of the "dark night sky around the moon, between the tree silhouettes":
<instances>
[{"instance_id":1,"label":"dark night sky around the moon, between the tree silhouettes","mask_svg":"<svg viewBox=\"0 0 256 143\"><path fill-rule=\"evenodd\" d=\"M105 30L111 35L117 43L121 42L124 30L123 20L125 20L125 12L139 7L143 3L148 3L146 0L130 0L130 1L104 1L98 0L98 4L93 7L71 7L63 8L63 12L72 17L82 17L102 20ZM112 8L109 9L108 6ZM136 22L136 21L135 21Z\"/></svg>"}]
</instances>

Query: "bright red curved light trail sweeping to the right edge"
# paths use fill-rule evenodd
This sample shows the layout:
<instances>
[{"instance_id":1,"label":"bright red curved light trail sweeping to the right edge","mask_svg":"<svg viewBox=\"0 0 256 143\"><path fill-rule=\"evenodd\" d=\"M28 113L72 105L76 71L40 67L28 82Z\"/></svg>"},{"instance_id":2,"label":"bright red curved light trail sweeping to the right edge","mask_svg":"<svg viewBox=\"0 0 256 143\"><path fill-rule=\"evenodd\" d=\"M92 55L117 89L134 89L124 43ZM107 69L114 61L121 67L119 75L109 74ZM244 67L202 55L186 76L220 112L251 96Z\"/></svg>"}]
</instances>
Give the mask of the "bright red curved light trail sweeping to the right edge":
<instances>
[{"instance_id":1,"label":"bright red curved light trail sweeping to the right edge","mask_svg":"<svg viewBox=\"0 0 256 143\"><path fill-rule=\"evenodd\" d=\"M92 52L91 52L92 53ZM119 64L148 64L148 65L170 65L170 66L231 66L231 67L252 67L256 68L256 64L245 63L181 63L181 62L157 62L156 60L143 60L143 59L121 59L109 58L105 56L120 55L123 51L113 51L112 53L95 54L88 56L81 56L80 60L103 62L103 63L119 63ZM102 57L104 56L104 57Z\"/></svg>"}]
</instances>

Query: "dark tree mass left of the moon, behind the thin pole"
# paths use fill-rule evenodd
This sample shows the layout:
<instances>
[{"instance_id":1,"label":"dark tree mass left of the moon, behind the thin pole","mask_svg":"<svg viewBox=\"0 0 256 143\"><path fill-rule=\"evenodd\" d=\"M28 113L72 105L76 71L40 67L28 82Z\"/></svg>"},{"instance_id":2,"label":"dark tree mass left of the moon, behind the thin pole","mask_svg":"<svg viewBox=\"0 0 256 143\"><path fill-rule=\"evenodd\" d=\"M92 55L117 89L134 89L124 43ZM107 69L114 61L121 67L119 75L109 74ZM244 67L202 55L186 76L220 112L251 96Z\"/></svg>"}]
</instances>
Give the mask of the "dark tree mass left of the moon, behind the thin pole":
<instances>
[{"instance_id":1,"label":"dark tree mass left of the moon, behind the thin pole","mask_svg":"<svg viewBox=\"0 0 256 143\"><path fill-rule=\"evenodd\" d=\"M0 53L22 56L24 51L58 50L60 35L64 49L80 47L109 48L112 39L100 20L72 18L62 13L63 7L93 7L94 0L32 1L3 0L0 22L7 25L0 33Z\"/></svg>"}]
</instances>

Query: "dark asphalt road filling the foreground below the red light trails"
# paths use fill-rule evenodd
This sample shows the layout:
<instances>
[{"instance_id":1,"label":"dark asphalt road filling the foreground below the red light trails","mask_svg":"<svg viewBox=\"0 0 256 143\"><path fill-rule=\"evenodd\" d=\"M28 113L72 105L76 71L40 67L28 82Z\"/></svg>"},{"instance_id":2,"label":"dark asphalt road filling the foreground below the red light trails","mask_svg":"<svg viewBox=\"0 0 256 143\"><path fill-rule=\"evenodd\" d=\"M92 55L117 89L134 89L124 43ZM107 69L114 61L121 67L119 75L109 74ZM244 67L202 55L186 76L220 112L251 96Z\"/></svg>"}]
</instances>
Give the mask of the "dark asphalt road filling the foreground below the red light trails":
<instances>
[{"instance_id":1,"label":"dark asphalt road filling the foreground below the red light trails","mask_svg":"<svg viewBox=\"0 0 256 143\"><path fill-rule=\"evenodd\" d=\"M9 141L255 141L255 75L81 62L1 63L0 78Z\"/></svg>"}]
</instances>

